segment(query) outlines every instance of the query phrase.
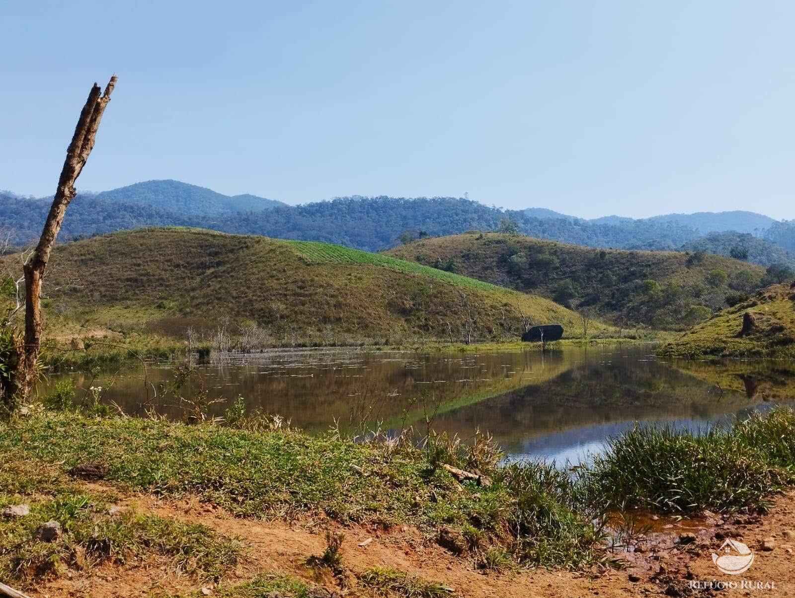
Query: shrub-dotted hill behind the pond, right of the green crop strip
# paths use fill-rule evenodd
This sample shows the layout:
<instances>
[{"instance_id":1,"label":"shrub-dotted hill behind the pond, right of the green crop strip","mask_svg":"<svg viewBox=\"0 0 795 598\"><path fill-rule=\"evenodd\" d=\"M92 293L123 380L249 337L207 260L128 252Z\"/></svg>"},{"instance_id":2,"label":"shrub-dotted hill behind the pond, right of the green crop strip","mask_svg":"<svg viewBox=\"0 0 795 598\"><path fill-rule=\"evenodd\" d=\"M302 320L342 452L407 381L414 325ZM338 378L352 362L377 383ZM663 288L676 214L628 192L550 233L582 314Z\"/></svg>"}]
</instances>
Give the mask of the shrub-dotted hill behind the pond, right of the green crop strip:
<instances>
[{"instance_id":1,"label":"shrub-dotted hill behind the pond, right of the green crop strip","mask_svg":"<svg viewBox=\"0 0 795 598\"><path fill-rule=\"evenodd\" d=\"M396 257L588 309L619 325L684 329L754 290L761 266L719 255L599 250L498 233L421 239Z\"/></svg>"}]
</instances>

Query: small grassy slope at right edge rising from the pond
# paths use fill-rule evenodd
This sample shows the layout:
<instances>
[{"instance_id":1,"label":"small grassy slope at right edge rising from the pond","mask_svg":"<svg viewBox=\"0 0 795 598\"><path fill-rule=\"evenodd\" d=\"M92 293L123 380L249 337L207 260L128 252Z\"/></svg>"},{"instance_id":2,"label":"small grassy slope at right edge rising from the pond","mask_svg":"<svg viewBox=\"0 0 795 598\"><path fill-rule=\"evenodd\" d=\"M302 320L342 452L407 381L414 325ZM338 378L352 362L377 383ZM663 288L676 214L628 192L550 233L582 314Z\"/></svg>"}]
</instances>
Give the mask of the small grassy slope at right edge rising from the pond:
<instances>
[{"instance_id":1,"label":"small grassy slope at right edge rising from the pond","mask_svg":"<svg viewBox=\"0 0 795 598\"><path fill-rule=\"evenodd\" d=\"M795 355L795 283L766 287L712 319L665 344L661 355L696 358L704 355L730 357L793 357ZM744 314L754 327L743 334Z\"/></svg>"}]
</instances>

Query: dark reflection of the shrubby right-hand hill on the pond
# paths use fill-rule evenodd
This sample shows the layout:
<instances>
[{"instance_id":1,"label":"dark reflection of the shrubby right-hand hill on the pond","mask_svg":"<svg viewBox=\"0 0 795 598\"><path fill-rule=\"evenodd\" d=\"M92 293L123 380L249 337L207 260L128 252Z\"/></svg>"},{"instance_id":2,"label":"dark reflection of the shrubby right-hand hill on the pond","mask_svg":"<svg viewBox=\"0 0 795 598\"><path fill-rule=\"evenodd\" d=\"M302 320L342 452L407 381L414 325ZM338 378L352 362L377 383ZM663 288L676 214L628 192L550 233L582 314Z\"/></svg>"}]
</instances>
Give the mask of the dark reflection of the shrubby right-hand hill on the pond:
<instances>
[{"instance_id":1,"label":"dark reflection of the shrubby right-hand hill on the pond","mask_svg":"<svg viewBox=\"0 0 795 598\"><path fill-rule=\"evenodd\" d=\"M440 414L435 425L462 437L487 431L508 452L547 452L602 441L634 421L703 425L759 402L735 390L721 395L665 363L641 360L637 349L622 354L584 359L553 379Z\"/></svg>"}]
</instances>

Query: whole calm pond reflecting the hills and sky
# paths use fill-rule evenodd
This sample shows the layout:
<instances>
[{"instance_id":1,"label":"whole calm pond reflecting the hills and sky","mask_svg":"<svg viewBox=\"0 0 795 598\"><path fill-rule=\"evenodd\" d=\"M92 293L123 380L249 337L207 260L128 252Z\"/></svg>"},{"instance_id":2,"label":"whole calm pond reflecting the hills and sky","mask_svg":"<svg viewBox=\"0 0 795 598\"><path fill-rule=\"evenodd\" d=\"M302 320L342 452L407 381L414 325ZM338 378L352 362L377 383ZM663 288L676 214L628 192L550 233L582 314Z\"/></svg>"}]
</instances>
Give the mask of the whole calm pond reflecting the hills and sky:
<instances>
[{"instance_id":1,"label":"whole calm pond reflecting the hills and sky","mask_svg":"<svg viewBox=\"0 0 795 598\"><path fill-rule=\"evenodd\" d=\"M45 386L71 377L80 400L89 386L103 386L103 402L143 414L142 402L176 378L174 368L62 374ZM280 350L197 365L178 394L204 389L208 398L225 399L210 406L216 416L239 395L249 410L279 414L309 432L380 424L423 435L430 425L467 438L480 429L510 457L576 463L635 421L704 429L789 401L793 382L789 362L663 361L651 345L543 353ZM176 419L185 413L173 393L149 407Z\"/></svg>"}]
</instances>

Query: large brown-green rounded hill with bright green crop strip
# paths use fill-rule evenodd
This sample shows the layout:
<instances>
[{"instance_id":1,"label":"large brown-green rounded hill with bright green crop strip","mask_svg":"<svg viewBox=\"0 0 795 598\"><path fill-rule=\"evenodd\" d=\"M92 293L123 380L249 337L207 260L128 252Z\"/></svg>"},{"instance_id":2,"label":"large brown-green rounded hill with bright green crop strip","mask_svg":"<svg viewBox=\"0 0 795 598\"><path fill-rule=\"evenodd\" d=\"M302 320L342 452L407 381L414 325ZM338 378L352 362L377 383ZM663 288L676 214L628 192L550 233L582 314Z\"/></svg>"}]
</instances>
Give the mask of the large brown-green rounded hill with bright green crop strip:
<instances>
[{"instance_id":1,"label":"large brown-green rounded hill with bright green crop strip","mask_svg":"<svg viewBox=\"0 0 795 598\"><path fill-rule=\"evenodd\" d=\"M57 247L51 267L46 324L62 339L103 330L184 338L188 326L207 339L225 324L232 336L256 327L269 344L460 342L471 320L473 340L515 340L520 309L579 329L575 313L548 299L327 243L141 229Z\"/></svg>"}]
</instances>

